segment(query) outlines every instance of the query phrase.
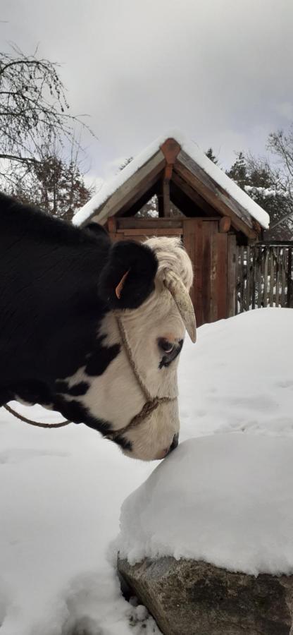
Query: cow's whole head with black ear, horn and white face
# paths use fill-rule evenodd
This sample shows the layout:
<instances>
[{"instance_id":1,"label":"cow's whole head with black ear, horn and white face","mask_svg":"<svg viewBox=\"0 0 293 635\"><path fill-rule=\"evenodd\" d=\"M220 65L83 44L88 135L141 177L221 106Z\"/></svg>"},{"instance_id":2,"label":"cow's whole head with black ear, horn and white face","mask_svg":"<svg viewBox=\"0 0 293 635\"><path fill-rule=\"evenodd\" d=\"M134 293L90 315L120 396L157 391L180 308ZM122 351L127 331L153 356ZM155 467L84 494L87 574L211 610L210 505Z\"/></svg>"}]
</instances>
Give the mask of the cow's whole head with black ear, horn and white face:
<instances>
[{"instance_id":1,"label":"cow's whole head with black ear, horn and white face","mask_svg":"<svg viewBox=\"0 0 293 635\"><path fill-rule=\"evenodd\" d=\"M116 243L101 272L99 295L110 310L97 337L115 354L102 374L73 380L89 381L80 397L92 417L85 423L96 428L97 417L107 422L101 432L135 459L161 459L177 445L177 364L185 327L195 341L191 285L192 264L179 238ZM146 416L145 392L158 398Z\"/></svg>"}]
</instances>

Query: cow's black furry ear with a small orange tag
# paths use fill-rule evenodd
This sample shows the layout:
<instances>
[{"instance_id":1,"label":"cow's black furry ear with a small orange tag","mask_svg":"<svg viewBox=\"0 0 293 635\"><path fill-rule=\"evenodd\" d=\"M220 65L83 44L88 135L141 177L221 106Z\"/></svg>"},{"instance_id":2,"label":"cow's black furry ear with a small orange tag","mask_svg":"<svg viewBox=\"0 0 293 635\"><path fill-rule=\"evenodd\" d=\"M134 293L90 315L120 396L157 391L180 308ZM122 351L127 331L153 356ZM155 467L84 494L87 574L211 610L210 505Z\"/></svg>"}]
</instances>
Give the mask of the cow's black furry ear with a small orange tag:
<instances>
[{"instance_id":1,"label":"cow's black furry ear with a small orange tag","mask_svg":"<svg viewBox=\"0 0 293 635\"><path fill-rule=\"evenodd\" d=\"M142 243L114 243L99 277L99 296L110 308L137 308L154 290L158 261Z\"/></svg>"}]
</instances>

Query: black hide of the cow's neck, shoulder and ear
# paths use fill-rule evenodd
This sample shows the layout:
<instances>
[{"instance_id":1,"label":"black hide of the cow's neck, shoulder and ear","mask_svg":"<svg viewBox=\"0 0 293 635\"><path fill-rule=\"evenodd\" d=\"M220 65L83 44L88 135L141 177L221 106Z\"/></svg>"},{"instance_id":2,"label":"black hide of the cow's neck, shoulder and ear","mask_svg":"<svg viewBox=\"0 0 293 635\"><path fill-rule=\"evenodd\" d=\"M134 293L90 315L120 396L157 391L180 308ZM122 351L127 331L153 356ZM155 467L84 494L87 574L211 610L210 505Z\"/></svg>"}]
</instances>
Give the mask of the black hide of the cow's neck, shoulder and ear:
<instances>
[{"instance_id":1,"label":"black hide of the cow's neck, shoulder and ear","mask_svg":"<svg viewBox=\"0 0 293 635\"><path fill-rule=\"evenodd\" d=\"M0 404L18 395L111 432L111 423L92 417L77 399L63 399L56 382L78 397L87 382L69 388L66 378L79 368L91 376L105 372L120 346L97 338L101 322L116 306L139 306L154 288L156 269L146 246L112 246L99 226L80 229L0 193ZM118 301L115 286L127 270Z\"/></svg>"}]
</instances>

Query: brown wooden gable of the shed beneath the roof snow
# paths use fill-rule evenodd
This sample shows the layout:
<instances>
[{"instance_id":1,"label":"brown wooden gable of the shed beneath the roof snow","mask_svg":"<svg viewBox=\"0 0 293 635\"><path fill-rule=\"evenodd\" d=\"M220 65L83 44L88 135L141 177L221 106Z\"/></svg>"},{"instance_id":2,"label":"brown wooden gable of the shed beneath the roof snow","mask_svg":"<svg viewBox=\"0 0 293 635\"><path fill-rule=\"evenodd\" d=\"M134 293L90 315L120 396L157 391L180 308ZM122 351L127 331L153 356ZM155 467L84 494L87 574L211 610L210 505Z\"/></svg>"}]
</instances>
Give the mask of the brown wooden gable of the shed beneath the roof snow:
<instances>
[{"instance_id":1,"label":"brown wooden gable of the shed beneath the roof snow","mask_svg":"<svg viewBox=\"0 0 293 635\"><path fill-rule=\"evenodd\" d=\"M170 216L170 202L173 202L187 217L230 218L232 228L250 241L261 232L261 226L241 203L173 138L167 139L149 160L96 207L92 217L96 222L106 224L109 217L135 216L154 194L158 197L159 217Z\"/></svg>"}]
</instances>

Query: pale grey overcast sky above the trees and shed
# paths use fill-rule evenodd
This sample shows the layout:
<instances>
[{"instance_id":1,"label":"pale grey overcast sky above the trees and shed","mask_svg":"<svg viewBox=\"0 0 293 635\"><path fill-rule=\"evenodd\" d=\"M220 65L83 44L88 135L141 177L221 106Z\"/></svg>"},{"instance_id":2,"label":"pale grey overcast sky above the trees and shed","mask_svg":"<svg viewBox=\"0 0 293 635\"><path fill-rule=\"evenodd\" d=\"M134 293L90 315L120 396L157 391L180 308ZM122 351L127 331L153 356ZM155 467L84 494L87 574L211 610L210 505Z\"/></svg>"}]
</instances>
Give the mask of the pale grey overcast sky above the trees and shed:
<instances>
[{"instance_id":1,"label":"pale grey overcast sky above the trees and shed","mask_svg":"<svg viewBox=\"0 0 293 635\"><path fill-rule=\"evenodd\" d=\"M228 166L293 120L292 0L1 0L0 20L2 49L62 64L95 176L169 128Z\"/></svg>"}]
</instances>

